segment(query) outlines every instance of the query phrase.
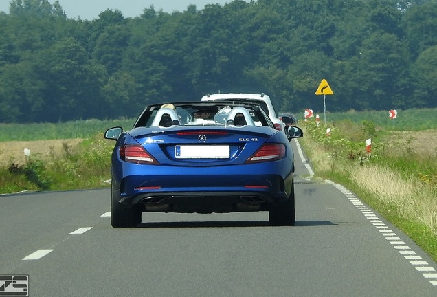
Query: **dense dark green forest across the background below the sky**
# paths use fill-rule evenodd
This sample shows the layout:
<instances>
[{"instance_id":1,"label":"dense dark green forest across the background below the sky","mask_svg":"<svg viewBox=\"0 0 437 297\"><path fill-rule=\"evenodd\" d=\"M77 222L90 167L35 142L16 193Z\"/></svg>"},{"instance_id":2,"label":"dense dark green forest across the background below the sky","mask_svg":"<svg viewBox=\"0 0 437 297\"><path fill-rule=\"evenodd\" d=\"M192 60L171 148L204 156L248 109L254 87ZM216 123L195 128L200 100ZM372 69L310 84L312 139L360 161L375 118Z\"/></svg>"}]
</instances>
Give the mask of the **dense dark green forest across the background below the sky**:
<instances>
[{"instance_id":1,"label":"dense dark green forest across the background below the sky","mask_svg":"<svg viewBox=\"0 0 437 297\"><path fill-rule=\"evenodd\" d=\"M0 122L134 117L149 103L264 92L278 111L437 107L436 0L241 0L69 19L0 13Z\"/></svg>"}]
</instances>

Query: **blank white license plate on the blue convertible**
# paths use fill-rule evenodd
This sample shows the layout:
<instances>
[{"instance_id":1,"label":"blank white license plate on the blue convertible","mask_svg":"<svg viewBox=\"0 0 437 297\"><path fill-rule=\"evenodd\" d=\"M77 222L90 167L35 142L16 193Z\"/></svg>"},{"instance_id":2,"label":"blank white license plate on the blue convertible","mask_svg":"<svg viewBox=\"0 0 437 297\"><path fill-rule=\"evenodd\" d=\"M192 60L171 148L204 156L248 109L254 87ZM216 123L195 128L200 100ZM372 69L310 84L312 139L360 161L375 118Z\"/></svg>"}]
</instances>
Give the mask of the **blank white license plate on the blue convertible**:
<instances>
[{"instance_id":1,"label":"blank white license plate on the blue convertible","mask_svg":"<svg viewBox=\"0 0 437 297\"><path fill-rule=\"evenodd\" d=\"M176 159L229 159L228 145L178 145L175 147Z\"/></svg>"}]
</instances>

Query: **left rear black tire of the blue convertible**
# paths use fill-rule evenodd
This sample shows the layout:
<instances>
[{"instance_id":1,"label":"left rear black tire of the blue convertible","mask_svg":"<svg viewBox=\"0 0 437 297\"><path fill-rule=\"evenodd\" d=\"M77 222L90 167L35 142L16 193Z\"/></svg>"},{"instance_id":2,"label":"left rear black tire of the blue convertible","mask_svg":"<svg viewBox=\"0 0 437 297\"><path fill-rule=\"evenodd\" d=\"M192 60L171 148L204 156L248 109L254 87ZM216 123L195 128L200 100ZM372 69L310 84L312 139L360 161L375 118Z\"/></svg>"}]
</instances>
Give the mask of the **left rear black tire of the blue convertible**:
<instances>
[{"instance_id":1,"label":"left rear black tire of the blue convertible","mask_svg":"<svg viewBox=\"0 0 437 297\"><path fill-rule=\"evenodd\" d=\"M135 227L141 223L141 210L137 206L125 208L111 194L111 225L114 228Z\"/></svg>"}]
</instances>

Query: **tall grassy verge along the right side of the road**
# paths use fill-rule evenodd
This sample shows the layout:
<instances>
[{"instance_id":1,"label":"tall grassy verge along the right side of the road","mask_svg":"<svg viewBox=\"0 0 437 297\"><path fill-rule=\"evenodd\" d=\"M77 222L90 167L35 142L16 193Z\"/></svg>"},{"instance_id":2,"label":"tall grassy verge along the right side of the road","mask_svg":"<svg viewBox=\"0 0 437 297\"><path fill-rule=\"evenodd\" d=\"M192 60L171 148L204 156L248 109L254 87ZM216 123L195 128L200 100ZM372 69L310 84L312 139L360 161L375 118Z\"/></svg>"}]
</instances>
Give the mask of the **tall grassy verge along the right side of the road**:
<instances>
[{"instance_id":1,"label":"tall grassy verge along the right side of the road","mask_svg":"<svg viewBox=\"0 0 437 297\"><path fill-rule=\"evenodd\" d=\"M329 136L326 126L306 122L302 127L300 144L316 177L355 192L437 261L437 162L432 152L425 156L407 146L394 149L385 142L390 133L365 122L337 123ZM365 146L370 136L377 143L371 154Z\"/></svg>"}]
</instances>

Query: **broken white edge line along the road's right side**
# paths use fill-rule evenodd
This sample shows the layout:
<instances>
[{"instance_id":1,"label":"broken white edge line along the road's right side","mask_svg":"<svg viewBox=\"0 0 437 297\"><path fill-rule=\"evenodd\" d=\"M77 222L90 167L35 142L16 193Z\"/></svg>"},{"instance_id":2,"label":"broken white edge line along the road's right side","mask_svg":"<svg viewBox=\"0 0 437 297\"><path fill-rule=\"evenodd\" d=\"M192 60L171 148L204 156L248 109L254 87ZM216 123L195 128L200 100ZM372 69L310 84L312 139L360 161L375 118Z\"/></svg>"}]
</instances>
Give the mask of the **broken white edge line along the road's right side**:
<instances>
[{"instance_id":1,"label":"broken white edge line along the road's right side","mask_svg":"<svg viewBox=\"0 0 437 297\"><path fill-rule=\"evenodd\" d=\"M434 267L429 265L427 261L423 261L421 256L416 255L416 252L412 250L408 245L405 244L401 240L399 236L393 230L388 228L385 223L383 223L379 217L377 217L372 210L364 206L364 204L350 192L344 186L341 186L339 184L335 184L332 181L326 181L328 184L333 184L335 188L337 188L340 192L342 192L346 198L349 199L349 201L359 210L362 214L374 225L379 232L381 232L381 235L387 239L392 247L399 252L399 254L403 255L405 259L410 260L410 264L416 268L418 272L423 272L422 275L424 278L429 279L429 283L437 287L437 273Z\"/></svg>"}]
</instances>

